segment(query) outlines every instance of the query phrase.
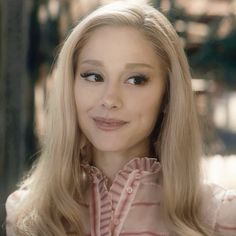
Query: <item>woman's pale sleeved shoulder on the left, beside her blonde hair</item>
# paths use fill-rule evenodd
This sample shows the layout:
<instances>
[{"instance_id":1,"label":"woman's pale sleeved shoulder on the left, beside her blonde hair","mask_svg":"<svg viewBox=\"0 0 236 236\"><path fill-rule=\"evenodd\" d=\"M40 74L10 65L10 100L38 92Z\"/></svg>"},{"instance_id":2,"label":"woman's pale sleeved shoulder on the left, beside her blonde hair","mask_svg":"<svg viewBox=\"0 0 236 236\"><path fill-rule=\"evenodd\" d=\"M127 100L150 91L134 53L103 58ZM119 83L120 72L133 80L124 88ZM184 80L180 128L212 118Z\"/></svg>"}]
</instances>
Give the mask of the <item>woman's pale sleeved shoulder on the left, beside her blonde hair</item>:
<instances>
[{"instance_id":1,"label":"woman's pale sleeved shoulder on the left, beside her blonde hair","mask_svg":"<svg viewBox=\"0 0 236 236\"><path fill-rule=\"evenodd\" d=\"M11 193L6 201L6 231L7 236L14 236L13 225L15 220L15 212L18 206L21 204L22 200L26 196L28 190L19 189Z\"/></svg>"}]
</instances>

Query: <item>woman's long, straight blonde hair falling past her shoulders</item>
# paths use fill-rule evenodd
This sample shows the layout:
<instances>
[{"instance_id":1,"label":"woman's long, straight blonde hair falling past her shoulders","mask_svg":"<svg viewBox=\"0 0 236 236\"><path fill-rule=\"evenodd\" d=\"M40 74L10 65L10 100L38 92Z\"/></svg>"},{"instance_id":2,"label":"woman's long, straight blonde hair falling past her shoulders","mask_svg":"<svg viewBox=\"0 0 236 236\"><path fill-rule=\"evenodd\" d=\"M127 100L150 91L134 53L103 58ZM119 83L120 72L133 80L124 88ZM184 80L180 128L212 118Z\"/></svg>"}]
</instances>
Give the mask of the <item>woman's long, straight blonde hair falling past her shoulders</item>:
<instances>
[{"instance_id":1,"label":"woman's long, straight blonde hair falling past her shoulders","mask_svg":"<svg viewBox=\"0 0 236 236\"><path fill-rule=\"evenodd\" d=\"M48 101L42 153L22 185L28 188L28 195L16 213L17 235L65 236L65 225L83 235L78 202L85 183L80 167L84 137L76 117L74 75L81 48L94 30L107 25L138 29L166 65L165 114L152 138L162 164L163 212L172 235L208 235L199 212L201 141L183 48L158 10L127 2L112 3L88 15L61 49Z\"/></svg>"}]
</instances>

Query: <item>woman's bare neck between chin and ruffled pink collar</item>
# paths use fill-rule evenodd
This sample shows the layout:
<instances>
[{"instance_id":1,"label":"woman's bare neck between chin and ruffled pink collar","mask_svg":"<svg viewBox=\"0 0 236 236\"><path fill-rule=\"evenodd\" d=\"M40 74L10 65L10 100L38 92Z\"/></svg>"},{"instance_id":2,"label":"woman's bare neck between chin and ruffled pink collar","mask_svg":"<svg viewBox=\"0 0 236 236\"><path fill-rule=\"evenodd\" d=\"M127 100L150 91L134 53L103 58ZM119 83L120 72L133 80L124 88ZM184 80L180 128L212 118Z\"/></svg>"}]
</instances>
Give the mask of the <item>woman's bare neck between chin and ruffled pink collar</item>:
<instances>
[{"instance_id":1,"label":"woman's bare neck between chin and ruffled pink collar","mask_svg":"<svg viewBox=\"0 0 236 236\"><path fill-rule=\"evenodd\" d=\"M94 148L93 150L93 164L100 169L112 182L119 170L136 157L149 156L149 147L147 144L142 144L133 150L107 152Z\"/></svg>"}]
</instances>

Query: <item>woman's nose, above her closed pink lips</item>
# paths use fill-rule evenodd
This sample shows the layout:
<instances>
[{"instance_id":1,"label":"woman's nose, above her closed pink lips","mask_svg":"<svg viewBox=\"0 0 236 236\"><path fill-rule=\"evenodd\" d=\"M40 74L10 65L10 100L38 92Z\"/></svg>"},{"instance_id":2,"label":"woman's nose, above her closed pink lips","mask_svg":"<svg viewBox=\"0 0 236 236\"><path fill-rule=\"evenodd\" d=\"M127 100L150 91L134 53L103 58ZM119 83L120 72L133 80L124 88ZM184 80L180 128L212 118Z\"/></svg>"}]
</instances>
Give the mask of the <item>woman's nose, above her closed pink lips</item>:
<instances>
[{"instance_id":1,"label":"woman's nose, above her closed pink lips","mask_svg":"<svg viewBox=\"0 0 236 236\"><path fill-rule=\"evenodd\" d=\"M102 107L106 109L119 109L122 107L122 94L117 84L108 84L101 99Z\"/></svg>"}]
</instances>

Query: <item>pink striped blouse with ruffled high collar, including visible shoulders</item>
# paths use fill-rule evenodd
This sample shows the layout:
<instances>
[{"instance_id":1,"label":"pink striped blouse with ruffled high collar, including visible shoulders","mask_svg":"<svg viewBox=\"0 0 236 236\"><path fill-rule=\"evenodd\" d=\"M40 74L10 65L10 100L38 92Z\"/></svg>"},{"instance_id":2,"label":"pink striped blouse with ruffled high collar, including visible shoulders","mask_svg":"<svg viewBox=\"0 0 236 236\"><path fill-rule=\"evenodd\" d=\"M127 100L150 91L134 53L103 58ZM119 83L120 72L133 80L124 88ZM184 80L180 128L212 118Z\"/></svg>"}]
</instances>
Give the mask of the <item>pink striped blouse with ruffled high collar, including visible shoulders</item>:
<instances>
[{"instance_id":1,"label":"pink striped blouse with ruffled high collar, including visible shoulders","mask_svg":"<svg viewBox=\"0 0 236 236\"><path fill-rule=\"evenodd\" d=\"M170 236L161 212L162 186L158 182L161 165L154 158L135 158L120 170L110 187L107 177L96 167L83 165L90 187L80 203L86 235L90 236ZM8 198L7 236L16 198ZM236 191L215 185L203 188L201 214L205 223L222 236L236 236ZM76 235L71 229L69 235Z\"/></svg>"}]
</instances>

